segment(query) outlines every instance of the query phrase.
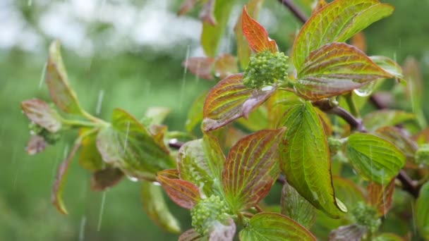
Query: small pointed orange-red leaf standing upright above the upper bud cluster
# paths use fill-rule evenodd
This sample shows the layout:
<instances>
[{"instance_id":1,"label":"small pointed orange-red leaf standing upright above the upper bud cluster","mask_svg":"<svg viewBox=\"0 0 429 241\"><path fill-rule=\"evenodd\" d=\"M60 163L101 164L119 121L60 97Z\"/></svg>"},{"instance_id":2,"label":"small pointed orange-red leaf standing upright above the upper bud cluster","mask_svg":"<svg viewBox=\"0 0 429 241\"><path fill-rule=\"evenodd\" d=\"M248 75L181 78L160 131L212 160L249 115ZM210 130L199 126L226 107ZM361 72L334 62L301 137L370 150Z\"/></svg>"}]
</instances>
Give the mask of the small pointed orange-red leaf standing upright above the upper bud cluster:
<instances>
[{"instance_id":1,"label":"small pointed orange-red leaf standing upright above the upper bud cluster","mask_svg":"<svg viewBox=\"0 0 429 241\"><path fill-rule=\"evenodd\" d=\"M267 30L262 25L248 15L246 6L243 7L241 15L241 28L250 49L255 53L265 50L272 51L272 53L278 51L276 42L268 37Z\"/></svg>"}]
</instances>

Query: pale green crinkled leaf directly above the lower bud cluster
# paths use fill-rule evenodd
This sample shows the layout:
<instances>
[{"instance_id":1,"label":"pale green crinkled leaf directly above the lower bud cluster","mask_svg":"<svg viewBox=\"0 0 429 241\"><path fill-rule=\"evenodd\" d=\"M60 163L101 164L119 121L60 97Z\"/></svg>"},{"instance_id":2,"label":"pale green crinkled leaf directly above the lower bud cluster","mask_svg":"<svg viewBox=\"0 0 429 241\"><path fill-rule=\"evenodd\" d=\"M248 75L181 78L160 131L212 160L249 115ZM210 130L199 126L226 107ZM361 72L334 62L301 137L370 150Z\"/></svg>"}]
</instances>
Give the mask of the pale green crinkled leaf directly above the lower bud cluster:
<instances>
[{"instance_id":1,"label":"pale green crinkled leaf directly above the lower bud cluster","mask_svg":"<svg viewBox=\"0 0 429 241\"><path fill-rule=\"evenodd\" d=\"M206 152L208 152L206 154ZM210 153L214 156L209 156ZM177 154L177 168L182 180L200 187L207 197L221 194L221 171L225 157L217 140L205 135L204 139L186 142Z\"/></svg>"}]
</instances>

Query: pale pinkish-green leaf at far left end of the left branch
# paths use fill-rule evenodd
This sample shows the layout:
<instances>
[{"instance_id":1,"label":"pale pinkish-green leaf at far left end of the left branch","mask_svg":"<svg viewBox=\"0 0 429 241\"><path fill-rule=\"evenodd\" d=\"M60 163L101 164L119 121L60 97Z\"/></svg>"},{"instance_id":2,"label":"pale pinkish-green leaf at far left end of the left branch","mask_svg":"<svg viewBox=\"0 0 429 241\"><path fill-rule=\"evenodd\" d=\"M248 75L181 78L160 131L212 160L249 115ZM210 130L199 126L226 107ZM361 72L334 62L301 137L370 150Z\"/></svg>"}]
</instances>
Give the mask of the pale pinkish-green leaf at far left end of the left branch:
<instances>
[{"instance_id":1,"label":"pale pinkish-green leaf at far left end of the left branch","mask_svg":"<svg viewBox=\"0 0 429 241\"><path fill-rule=\"evenodd\" d=\"M57 132L61 129L61 117L41 99L22 101L21 109L30 121L49 130L49 132Z\"/></svg>"}]
</instances>

